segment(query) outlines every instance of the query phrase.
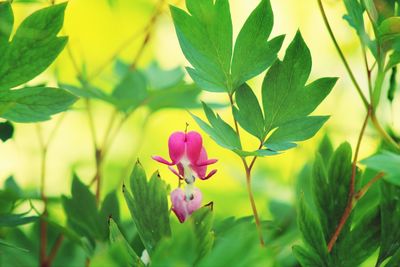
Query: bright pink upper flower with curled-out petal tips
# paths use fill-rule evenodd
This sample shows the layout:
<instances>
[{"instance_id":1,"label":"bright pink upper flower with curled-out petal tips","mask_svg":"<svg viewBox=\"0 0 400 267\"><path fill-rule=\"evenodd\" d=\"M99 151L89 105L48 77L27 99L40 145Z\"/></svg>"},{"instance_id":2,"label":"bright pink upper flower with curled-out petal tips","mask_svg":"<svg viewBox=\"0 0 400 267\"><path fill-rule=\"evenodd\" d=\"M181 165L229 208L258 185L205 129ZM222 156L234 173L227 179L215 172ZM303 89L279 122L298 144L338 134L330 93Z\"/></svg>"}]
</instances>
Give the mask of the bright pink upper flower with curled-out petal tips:
<instances>
[{"instance_id":1,"label":"bright pink upper flower with curled-out petal tips","mask_svg":"<svg viewBox=\"0 0 400 267\"><path fill-rule=\"evenodd\" d=\"M168 140L169 157L171 162L160 156L152 158L166 164L169 169L186 183L192 184L196 178L206 180L213 176L217 170L207 174L207 166L217 162L216 159L208 159L207 152L203 147L203 139L197 132L174 132ZM177 170L172 166L176 165Z\"/></svg>"}]
</instances>

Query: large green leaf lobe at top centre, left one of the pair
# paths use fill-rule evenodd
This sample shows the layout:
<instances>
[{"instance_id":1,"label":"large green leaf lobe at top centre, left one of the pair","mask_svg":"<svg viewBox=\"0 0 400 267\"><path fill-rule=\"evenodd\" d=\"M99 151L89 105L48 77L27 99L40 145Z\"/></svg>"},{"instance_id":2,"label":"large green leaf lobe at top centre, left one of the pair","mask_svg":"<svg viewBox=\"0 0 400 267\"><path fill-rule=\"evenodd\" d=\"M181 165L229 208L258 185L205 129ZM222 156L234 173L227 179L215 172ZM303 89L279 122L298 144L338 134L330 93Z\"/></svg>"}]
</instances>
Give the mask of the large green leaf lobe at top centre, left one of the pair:
<instances>
[{"instance_id":1,"label":"large green leaf lobe at top centre, left one of the pair","mask_svg":"<svg viewBox=\"0 0 400 267\"><path fill-rule=\"evenodd\" d=\"M214 92L231 91L232 21L228 0L187 0L190 14L171 7L181 49L193 80Z\"/></svg>"}]
</instances>

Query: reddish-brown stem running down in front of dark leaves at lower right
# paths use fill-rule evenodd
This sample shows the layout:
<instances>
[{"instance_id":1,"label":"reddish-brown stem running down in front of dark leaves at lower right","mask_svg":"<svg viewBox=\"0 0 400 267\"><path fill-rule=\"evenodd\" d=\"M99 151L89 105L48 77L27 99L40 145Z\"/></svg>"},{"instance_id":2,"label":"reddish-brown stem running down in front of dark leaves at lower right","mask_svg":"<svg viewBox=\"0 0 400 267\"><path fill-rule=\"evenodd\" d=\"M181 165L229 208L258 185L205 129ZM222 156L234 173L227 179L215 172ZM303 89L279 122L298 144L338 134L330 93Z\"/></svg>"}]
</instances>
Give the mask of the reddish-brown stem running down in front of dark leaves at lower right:
<instances>
[{"instance_id":1,"label":"reddish-brown stem running down in front of dark leaves at lower right","mask_svg":"<svg viewBox=\"0 0 400 267\"><path fill-rule=\"evenodd\" d=\"M361 147L361 141L365 133L365 129L367 128L367 123L368 119L371 116L371 108L368 109L367 115L365 116L363 125L361 127L360 134L358 136L357 140L357 145L356 145L356 150L354 152L354 158L353 158L353 163L351 167L351 177L350 177L350 189L349 189L349 195L348 195L348 200L347 200L347 205L346 208L343 212L342 217L340 218L339 224L333 233L331 239L328 242L328 252L332 251L333 246L335 245L343 227L345 226L347 219L349 218L351 211L353 209L354 205L354 190L355 190L355 180L356 180L356 175L357 175L357 161L358 161L358 154L360 151Z\"/></svg>"}]
</instances>

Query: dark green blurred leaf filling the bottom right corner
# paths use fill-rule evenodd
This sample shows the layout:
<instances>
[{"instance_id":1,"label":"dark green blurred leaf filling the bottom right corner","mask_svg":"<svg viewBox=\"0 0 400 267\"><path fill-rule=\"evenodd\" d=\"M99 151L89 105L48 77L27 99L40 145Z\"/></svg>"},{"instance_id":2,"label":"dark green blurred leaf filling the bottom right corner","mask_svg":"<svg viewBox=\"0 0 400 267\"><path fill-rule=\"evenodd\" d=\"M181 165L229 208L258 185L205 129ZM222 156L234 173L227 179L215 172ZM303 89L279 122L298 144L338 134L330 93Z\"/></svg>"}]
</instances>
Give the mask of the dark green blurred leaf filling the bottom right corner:
<instances>
[{"instance_id":1,"label":"dark green blurred leaf filling the bottom right corner","mask_svg":"<svg viewBox=\"0 0 400 267\"><path fill-rule=\"evenodd\" d=\"M381 247L377 266L400 249L400 187L380 182Z\"/></svg>"}]
</instances>

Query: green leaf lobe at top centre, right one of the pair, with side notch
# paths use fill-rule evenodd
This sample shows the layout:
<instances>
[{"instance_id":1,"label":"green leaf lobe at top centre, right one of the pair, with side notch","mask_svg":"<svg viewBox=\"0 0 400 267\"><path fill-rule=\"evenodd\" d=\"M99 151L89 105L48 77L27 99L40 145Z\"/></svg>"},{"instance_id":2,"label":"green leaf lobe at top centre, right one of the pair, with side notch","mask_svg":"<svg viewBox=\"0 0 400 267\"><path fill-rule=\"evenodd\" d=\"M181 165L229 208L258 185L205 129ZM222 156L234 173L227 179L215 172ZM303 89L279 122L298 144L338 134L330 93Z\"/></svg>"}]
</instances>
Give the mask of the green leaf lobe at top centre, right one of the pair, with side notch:
<instances>
[{"instance_id":1,"label":"green leaf lobe at top centre, right one of the pair, with side notch","mask_svg":"<svg viewBox=\"0 0 400 267\"><path fill-rule=\"evenodd\" d=\"M236 39L232 58L233 88L266 70L277 58L284 36L267 42L274 17L269 0L262 0L250 14Z\"/></svg>"}]
</instances>

